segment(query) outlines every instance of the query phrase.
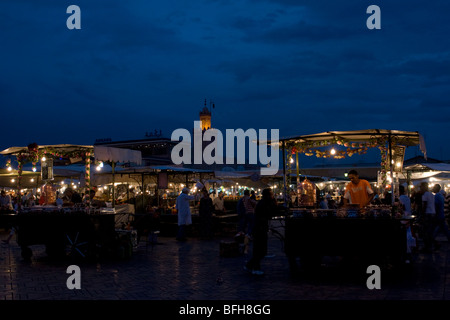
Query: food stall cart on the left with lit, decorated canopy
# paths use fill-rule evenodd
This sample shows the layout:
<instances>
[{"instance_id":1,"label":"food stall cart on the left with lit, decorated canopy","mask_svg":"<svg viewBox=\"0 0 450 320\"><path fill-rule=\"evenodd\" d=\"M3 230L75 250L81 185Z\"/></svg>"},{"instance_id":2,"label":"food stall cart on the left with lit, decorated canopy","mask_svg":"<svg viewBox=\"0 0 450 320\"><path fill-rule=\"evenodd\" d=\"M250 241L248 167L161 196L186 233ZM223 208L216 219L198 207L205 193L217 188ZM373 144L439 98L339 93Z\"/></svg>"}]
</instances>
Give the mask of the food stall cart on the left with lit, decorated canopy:
<instances>
[{"instance_id":1,"label":"food stall cart on the left with lit, decorated canopy","mask_svg":"<svg viewBox=\"0 0 450 320\"><path fill-rule=\"evenodd\" d=\"M13 219L17 233L17 243L22 257L30 260L30 246L43 244L51 257L71 256L75 258L95 258L117 256L119 249L128 244L122 243L115 230L114 208L93 207L90 199L91 163L95 160L94 148L81 145L46 145L33 143L27 147L12 147L0 152L8 156L7 166L12 159L17 162L17 194L19 204ZM104 154L103 154L104 156ZM33 171L40 163L41 192L39 202L34 206L22 206L20 190L24 185L23 166L31 163ZM81 177L84 191L67 188L58 197L55 185L55 165L84 163L85 172ZM70 192L68 192L70 191ZM76 195L76 197L75 197Z\"/></svg>"}]
</instances>

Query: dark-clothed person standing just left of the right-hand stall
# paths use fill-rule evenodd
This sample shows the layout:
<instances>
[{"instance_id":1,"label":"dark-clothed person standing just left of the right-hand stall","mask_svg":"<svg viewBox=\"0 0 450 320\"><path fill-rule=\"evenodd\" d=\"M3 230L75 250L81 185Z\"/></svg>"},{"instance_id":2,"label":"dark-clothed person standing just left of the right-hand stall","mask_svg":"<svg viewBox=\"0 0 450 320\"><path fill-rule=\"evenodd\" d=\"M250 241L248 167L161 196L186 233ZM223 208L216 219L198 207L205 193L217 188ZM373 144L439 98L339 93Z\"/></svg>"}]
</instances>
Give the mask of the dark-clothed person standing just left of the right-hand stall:
<instances>
[{"instance_id":1,"label":"dark-clothed person standing just left of the right-hand stall","mask_svg":"<svg viewBox=\"0 0 450 320\"><path fill-rule=\"evenodd\" d=\"M256 204L255 221L253 226L253 250L252 257L244 266L244 269L254 275L263 275L261 260L267 254L267 241L269 221L276 215L277 203L271 189L264 189L262 198Z\"/></svg>"}]
</instances>

